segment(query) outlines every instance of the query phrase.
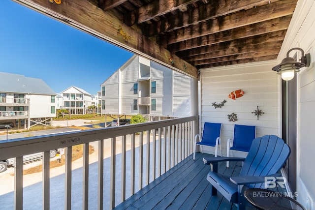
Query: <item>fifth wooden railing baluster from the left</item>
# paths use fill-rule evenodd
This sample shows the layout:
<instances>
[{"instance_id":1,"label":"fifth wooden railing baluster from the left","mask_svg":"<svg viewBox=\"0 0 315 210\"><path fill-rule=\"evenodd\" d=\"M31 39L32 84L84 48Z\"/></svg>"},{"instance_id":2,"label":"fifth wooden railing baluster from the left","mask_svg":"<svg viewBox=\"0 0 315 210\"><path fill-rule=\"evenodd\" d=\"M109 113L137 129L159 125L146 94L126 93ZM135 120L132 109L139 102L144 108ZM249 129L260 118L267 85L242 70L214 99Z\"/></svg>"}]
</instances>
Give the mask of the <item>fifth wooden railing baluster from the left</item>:
<instances>
[{"instance_id":1,"label":"fifth wooden railing baluster from the left","mask_svg":"<svg viewBox=\"0 0 315 210\"><path fill-rule=\"evenodd\" d=\"M104 140L98 141L98 184L97 184L97 210L103 209L104 187Z\"/></svg>"}]
</instances>

